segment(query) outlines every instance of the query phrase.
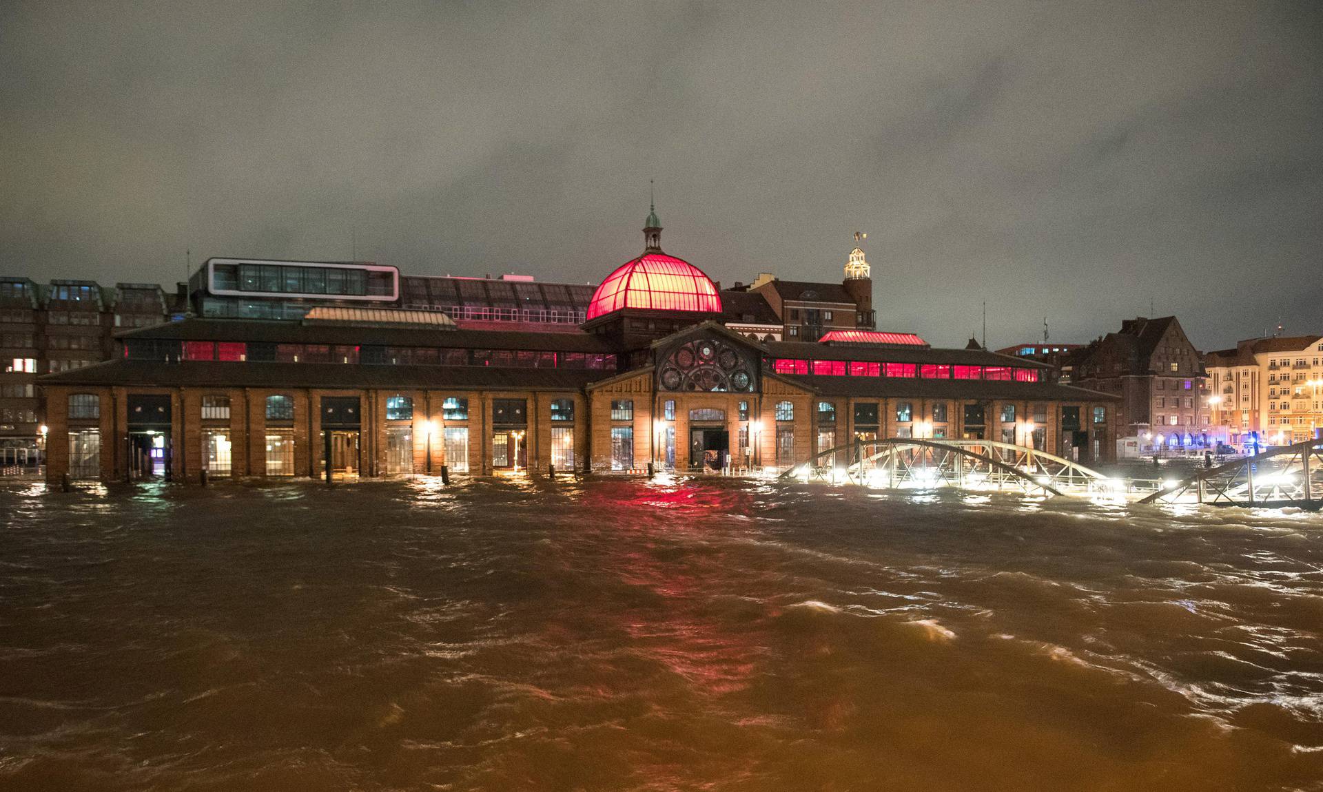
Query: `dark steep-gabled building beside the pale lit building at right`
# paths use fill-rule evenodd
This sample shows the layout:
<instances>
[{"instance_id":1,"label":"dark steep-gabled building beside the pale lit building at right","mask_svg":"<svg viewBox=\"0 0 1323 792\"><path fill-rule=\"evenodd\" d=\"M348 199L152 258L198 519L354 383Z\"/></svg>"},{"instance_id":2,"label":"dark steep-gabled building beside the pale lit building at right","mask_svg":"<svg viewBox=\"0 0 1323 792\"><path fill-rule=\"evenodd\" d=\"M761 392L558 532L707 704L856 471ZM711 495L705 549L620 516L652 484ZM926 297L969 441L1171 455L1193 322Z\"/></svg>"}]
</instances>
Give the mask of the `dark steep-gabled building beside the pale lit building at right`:
<instances>
[{"instance_id":1,"label":"dark steep-gabled building beside the pale lit building at right","mask_svg":"<svg viewBox=\"0 0 1323 792\"><path fill-rule=\"evenodd\" d=\"M1212 413L1201 356L1175 316L1127 319L1069 353L1072 383L1121 397L1123 454L1209 448Z\"/></svg>"}]
</instances>

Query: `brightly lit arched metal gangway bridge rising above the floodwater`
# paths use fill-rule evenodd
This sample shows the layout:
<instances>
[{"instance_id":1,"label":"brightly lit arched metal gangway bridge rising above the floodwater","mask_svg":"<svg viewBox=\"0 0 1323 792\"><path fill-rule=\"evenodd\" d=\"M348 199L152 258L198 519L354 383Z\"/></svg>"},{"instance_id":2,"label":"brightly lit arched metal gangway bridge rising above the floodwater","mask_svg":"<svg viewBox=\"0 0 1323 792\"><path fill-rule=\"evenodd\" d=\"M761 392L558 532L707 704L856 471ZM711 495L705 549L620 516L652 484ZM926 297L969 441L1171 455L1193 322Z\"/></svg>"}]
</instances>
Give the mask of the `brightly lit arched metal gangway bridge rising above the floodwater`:
<instances>
[{"instance_id":1,"label":"brightly lit arched metal gangway bridge rising above the floodwater","mask_svg":"<svg viewBox=\"0 0 1323 792\"><path fill-rule=\"evenodd\" d=\"M791 467L782 479L880 489L958 488L1142 504L1323 505L1323 439L1271 448L1183 480L1118 479L1077 461L996 440L855 440Z\"/></svg>"}]
</instances>

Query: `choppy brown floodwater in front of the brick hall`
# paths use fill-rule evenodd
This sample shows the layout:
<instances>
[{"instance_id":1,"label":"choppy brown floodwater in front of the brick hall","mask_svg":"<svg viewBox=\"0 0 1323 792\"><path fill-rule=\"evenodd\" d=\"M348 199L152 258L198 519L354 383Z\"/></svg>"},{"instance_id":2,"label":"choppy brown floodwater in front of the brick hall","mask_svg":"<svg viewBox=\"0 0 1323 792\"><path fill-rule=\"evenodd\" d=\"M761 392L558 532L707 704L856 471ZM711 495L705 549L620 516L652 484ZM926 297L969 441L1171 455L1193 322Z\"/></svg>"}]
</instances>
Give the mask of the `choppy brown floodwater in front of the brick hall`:
<instances>
[{"instance_id":1,"label":"choppy brown floodwater in front of the brick hall","mask_svg":"<svg viewBox=\"0 0 1323 792\"><path fill-rule=\"evenodd\" d=\"M1323 789L1323 516L0 491L0 789Z\"/></svg>"}]
</instances>

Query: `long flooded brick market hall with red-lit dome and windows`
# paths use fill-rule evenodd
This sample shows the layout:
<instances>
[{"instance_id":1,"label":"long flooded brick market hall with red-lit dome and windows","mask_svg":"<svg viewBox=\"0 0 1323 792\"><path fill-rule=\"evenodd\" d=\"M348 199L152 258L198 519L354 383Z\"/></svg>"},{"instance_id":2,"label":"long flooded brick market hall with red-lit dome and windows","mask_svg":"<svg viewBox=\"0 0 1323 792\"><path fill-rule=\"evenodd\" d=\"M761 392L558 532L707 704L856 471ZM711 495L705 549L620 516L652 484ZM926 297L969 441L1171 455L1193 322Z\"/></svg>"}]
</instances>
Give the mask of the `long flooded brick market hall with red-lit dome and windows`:
<instances>
[{"instance_id":1,"label":"long flooded brick market hall with red-lit dome and windows","mask_svg":"<svg viewBox=\"0 0 1323 792\"><path fill-rule=\"evenodd\" d=\"M877 332L871 307L814 341L767 340L783 333L750 324L771 320L749 313L749 292L728 300L744 312L732 317L712 279L662 250L655 213L646 226L643 254L557 332L400 308L398 276L353 264L327 267L359 294L296 319L214 311L123 331L114 360L40 379L48 479L319 477L327 464L369 477L774 472L890 436L1004 440L1085 464L1114 454L1115 397L974 344ZM262 267L271 295L290 283L315 300L310 264ZM241 270L221 276L238 309L251 296Z\"/></svg>"}]
</instances>

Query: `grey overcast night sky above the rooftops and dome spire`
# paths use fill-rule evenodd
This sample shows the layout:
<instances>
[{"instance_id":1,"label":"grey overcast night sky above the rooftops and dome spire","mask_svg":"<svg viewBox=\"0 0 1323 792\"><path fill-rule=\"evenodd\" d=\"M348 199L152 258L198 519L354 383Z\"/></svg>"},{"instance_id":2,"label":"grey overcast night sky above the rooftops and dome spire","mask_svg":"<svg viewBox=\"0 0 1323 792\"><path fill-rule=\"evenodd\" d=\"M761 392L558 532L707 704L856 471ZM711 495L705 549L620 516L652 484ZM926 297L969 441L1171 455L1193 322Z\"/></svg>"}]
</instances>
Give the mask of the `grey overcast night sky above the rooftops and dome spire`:
<instances>
[{"instance_id":1,"label":"grey overcast night sky above the rooftops and dome spire","mask_svg":"<svg viewBox=\"0 0 1323 792\"><path fill-rule=\"evenodd\" d=\"M878 327L1323 332L1323 4L0 0L0 274L837 280Z\"/></svg>"}]
</instances>

